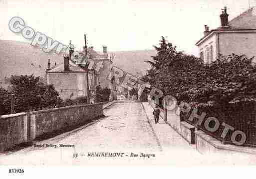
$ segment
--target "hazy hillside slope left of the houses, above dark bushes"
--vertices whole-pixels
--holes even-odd
[[[0,40],[0,77],[32,73],[44,76],[48,59],[52,65],[63,62],[62,55],[45,53],[29,43]]]

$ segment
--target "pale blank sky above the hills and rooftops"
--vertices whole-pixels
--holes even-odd
[[[26,41],[8,22],[19,16],[25,25],[77,50],[88,45],[102,51],[154,49],[161,36],[178,50],[198,56],[195,43],[204,25],[220,26],[221,8],[232,19],[256,5],[256,0],[0,0],[0,39]]]

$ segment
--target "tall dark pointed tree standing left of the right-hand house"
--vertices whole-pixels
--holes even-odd
[[[187,73],[200,69],[202,65],[197,57],[177,51],[176,46],[163,36],[159,46],[154,47],[157,55],[152,56],[152,61],[146,61],[152,65],[152,69],[148,70],[143,80],[162,90],[164,95],[178,97],[181,91],[189,89],[191,81]]]

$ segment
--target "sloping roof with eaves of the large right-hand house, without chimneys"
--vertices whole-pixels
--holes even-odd
[[[229,27],[218,27],[212,29],[207,35],[197,41],[201,42],[207,36],[212,35],[212,32],[226,32],[226,31],[242,31],[242,30],[256,30],[256,7],[251,7],[245,12],[229,21]]]

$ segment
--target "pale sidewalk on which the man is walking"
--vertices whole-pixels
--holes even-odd
[[[142,102],[142,105],[145,109],[149,122],[151,123],[152,128],[156,133],[156,136],[158,137],[159,143],[164,152],[173,151],[173,150],[188,150],[192,153],[198,153],[173,128],[171,128],[168,124],[165,124],[164,119],[162,118],[162,115],[160,116],[159,124],[155,124],[154,117],[152,115],[153,108],[149,105],[148,102]],[[169,119],[170,119],[170,116],[169,116]]]

